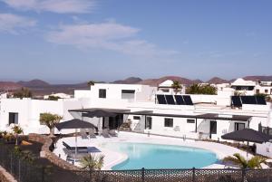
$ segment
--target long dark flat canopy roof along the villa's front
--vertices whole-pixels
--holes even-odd
[[[170,118],[189,118],[189,119],[206,119],[206,120],[233,120],[233,121],[248,121],[252,116],[247,115],[220,115],[215,113],[205,113],[199,115],[188,115],[188,114],[165,114],[165,113],[154,113],[152,110],[140,110],[131,111],[123,109],[108,109],[108,108],[90,108],[90,109],[78,109],[69,110],[77,112],[92,112],[94,110],[105,110],[115,114],[131,114],[131,115],[143,115],[143,116],[160,116]]]

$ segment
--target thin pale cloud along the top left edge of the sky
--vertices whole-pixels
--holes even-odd
[[[17,10],[47,11],[58,14],[88,13],[95,6],[94,0],[0,0]]]

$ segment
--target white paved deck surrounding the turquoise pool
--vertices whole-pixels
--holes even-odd
[[[63,152],[63,141],[68,143],[70,146],[75,146],[74,137],[59,139],[56,148],[54,149],[54,153],[57,156],[61,156],[64,160],[66,159],[66,155]],[[131,142],[131,143],[151,143],[151,144],[162,144],[162,145],[175,145],[175,146],[184,146],[184,147],[193,147],[193,148],[203,148],[208,149],[209,151],[217,154],[219,159],[225,158],[227,156],[232,156],[234,153],[239,153],[245,158],[247,157],[247,153],[238,148],[229,147],[223,144],[208,142],[208,141],[195,141],[191,139],[177,139],[170,137],[161,137],[161,136],[153,136],[150,137],[147,134],[139,134],[139,133],[131,133],[131,132],[119,132],[118,137],[113,138],[103,138],[101,136],[97,136],[96,139],[82,139],[81,137],[77,138],[78,147],[95,147],[101,150],[97,154],[102,154],[105,156],[104,158],[104,166],[103,170],[111,170],[113,166],[121,163],[126,160],[128,157],[125,153],[120,153],[116,151],[112,151],[108,148],[102,148],[102,143],[108,142]],[[248,154],[248,158],[251,158],[252,155]],[[80,166],[79,163],[75,163],[76,166]],[[212,164],[205,168],[224,168],[225,166],[222,164]]]

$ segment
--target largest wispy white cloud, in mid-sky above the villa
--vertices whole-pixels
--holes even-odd
[[[51,43],[70,44],[77,48],[111,50],[133,55],[171,55],[177,52],[160,50],[156,44],[137,38],[140,29],[107,22],[102,24],[60,25],[46,34]]]

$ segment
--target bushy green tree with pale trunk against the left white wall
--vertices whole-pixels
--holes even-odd
[[[63,117],[57,114],[45,112],[40,115],[41,124],[46,125],[50,129],[50,137],[53,137],[55,124],[59,123],[60,120],[63,120]]]

